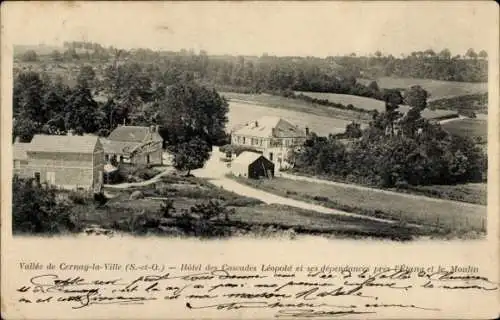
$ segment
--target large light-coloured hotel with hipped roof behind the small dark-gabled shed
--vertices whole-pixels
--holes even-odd
[[[308,128],[302,130],[285,119],[265,116],[232,132],[231,144],[262,152],[279,170],[290,167],[290,152],[303,145],[308,134]]]

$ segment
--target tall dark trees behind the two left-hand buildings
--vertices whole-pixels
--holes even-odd
[[[120,124],[156,124],[174,165],[189,173],[203,166],[212,145],[227,141],[228,110],[215,90],[189,77],[155,78],[139,64],[110,66],[102,80],[83,66],[74,87],[60,76],[22,71],[14,79],[13,136],[20,142],[37,133],[106,137]]]

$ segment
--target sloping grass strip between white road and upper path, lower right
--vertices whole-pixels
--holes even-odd
[[[486,226],[486,207],[480,205],[397,196],[355,188],[295,181],[285,178],[250,180],[240,183],[265,191],[309,201],[326,207],[427,226],[441,226],[450,232],[481,232]]]

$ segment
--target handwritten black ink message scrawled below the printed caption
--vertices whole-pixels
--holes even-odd
[[[109,276],[113,272],[100,273],[98,278],[86,272],[68,277],[60,270],[43,270],[17,288],[16,299],[31,305],[64,304],[74,310],[161,301],[180,303],[187,312],[266,309],[275,318],[331,318],[363,317],[388,308],[439,311],[438,304],[414,305],[398,300],[414,290],[420,290],[420,294],[423,290],[440,290],[440,294],[498,290],[496,283],[477,273],[446,270],[281,270],[285,271],[137,270],[120,273],[120,277]]]

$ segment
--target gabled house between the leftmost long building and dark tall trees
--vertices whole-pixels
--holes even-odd
[[[119,126],[101,139],[106,162],[162,164],[163,139],[158,126]]]

